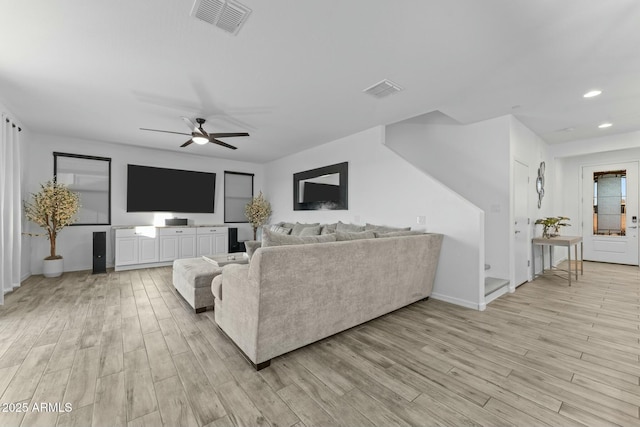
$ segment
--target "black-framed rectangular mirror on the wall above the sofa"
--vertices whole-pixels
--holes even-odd
[[[293,210],[346,210],[349,162],[293,174]]]

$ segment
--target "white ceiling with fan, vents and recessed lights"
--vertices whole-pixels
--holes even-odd
[[[436,110],[549,143],[640,130],[636,0],[243,0],[237,36],[193,2],[0,0],[0,102],[36,132],[254,162]],[[404,91],[362,93],[383,78]],[[139,130],[180,116],[251,136]]]

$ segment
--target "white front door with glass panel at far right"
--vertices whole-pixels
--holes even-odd
[[[638,163],[582,168],[584,259],[638,265]]]

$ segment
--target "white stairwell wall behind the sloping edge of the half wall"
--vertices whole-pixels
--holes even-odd
[[[509,278],[509,116],[470,125],[387,126],[387,145],[485,213],[485,261],[490,275]]]

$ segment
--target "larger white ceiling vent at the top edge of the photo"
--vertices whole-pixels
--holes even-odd
[[[191,11],[191,16],[233,35],[238,34],[250,14],[251,9],[230,0],[196,0]]]

